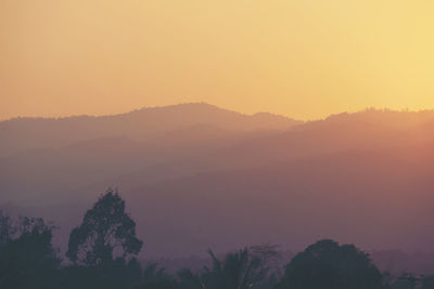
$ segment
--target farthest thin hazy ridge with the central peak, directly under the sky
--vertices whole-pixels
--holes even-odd
[[[144,142],[197,124],[229,131],[252,131],[282,130],[301,123],[269,114],[247,116],[205,103],[142,108],[102,117],[15,118],[0,122],[0,156],[113,136]]]

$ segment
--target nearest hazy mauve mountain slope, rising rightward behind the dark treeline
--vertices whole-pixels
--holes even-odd
[[[293,249],[319,238],[426,251],[434,241],[433,145],[202,173],[124,196],[151,253],[246,242]]]

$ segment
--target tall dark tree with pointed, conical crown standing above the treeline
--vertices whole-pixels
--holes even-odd
[[[99,266],[112,263],[115,254],[124,260],[138,254],[142,245],[125,201],[108,188],[72,231],[66,255],[75,264]]]

